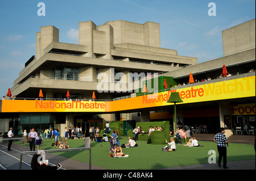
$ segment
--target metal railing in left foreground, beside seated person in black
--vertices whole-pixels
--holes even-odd
[[[56,153],[64,151],[82,151],[89,150],[89,170],[92,170],[92,150],[90,147],[85,148],[69,148],[69,149],[57,149],[57,150],[39,150],[39,151],[23,151],[20,152],[19,170],[22,170],[22,155],[23,154],[35,154],[35,153]]]

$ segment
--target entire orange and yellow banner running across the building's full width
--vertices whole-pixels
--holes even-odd
[[[205,85],[159,92],[111,102],[53,101],[53,100],[2,100],[2,112],[114,112],[139,108],[170,106],[171,92],[179,92],[183,103],[207,102],[234,98],[255,97],[255,76]],[[239,110],[239,109],[238,109]],[[254,106],[255,112],[255,106]]]

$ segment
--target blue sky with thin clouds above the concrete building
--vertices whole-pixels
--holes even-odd
[[[46,16],[38,16],[38,3]],[[209,16],[208,3],[216,4]],[[0,97],[13,87],[27,60],[35,55],[36,32],[53,25],[60,42],[78,44],[79,22],[112,20],[160,24],[162,48],[199,62],[222,56],[221,31],[255,18],[255,0],[9,0],[0,1]]]

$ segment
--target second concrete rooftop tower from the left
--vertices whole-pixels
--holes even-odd
[[[93,30],[96,30],[96,24],[93,22],[80,22],[79,23],[79,44],[88,46],[88,53],[86,57],[95,57],[93,53]]]

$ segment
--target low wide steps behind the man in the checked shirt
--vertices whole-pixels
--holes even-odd
[[[213,141],[213,137],[215,134],[193,134],[196,137],[197,141]],[[254,135],[232,135],[228,137],[228,142],[236,143],[236,144],[255,144],[255,136]]]

